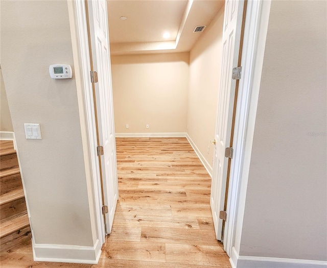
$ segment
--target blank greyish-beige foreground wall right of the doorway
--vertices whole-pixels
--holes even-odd
[[[240,255],[327,260],[326,25],[271,3]]]

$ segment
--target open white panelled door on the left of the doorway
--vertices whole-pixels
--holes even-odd
[[[98,72],[98,82],[95,83],[96,103],[99,139],[100,145],[103,146],[104,151],[104,155],[101,156],[101,171],[104,205],[108,206],[108,213],[105,214],[106,232],[110,233],[118,200],[118,177],[114,136],[107,3],[105,0],[91,0],[87,3],[92,63],[94,70]]]

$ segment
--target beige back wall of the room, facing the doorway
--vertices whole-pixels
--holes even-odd
[[[112,56],[111,66],[116,133],[186,132],[189,53]]]

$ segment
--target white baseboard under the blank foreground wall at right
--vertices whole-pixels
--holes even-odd
[[[238,256],[235,248],[229,259],[232,268],[323,268],[327,261]]]

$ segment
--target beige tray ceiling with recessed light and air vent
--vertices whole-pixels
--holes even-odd
[[[188,52],[224,0],[107,0],[112,55]],[[120,17],[127,17],[122,20]],[[170,37],[164,38],[164,33]]]

